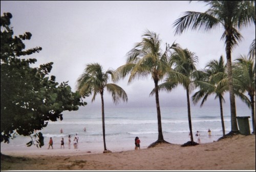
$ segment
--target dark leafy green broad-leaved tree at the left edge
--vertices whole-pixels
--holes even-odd
[[[15,134],[29,136],[46,127],[49,120],[62,120],[65,110],[78,110],[82,103],[79,92],[72,92],[67,82],[58,84],[48,77],[52,62],[30,67],[36,59],[22,56],[39,53],[41,47],[25,49],[24,40],[31,33],[13,36],[9,27],[11,13],[1,16],[1,142],[9,142]],[[39,146],[44,137],[38,134]]]

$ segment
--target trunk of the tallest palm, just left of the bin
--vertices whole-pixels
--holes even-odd
[[[228,30],[226,30],[228,32]],[[230,31],[229,31],[230,32]],[[226,56],[227,56],[227,76],[231,113],[231,131],[230,133],[239,133],[237,124],[236,101],[234,100],[234,88],[231,67],[231,34],[226,36]]]

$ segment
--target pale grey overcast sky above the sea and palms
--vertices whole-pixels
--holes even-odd
[[[220,40],[223,28],[210,33],[188,31],[174,36],[173,23],[185,11],[204,12],[204,3],[188,1],[1,1],[1,16],[4,12],[13,15],[11,26],[14,35],[30,32],[26,48],[41,46],[36,65],[54,62],[51,75],[57,82],[69,81],[75,91],[76,80],[86,64],[99,63],[104,71],[116,69],[126,61],[126,53],[136,42],[141,41],[145,30],[159,34],[162,46],[179,43],[182,48],[196,53],[198,69],[213,59],[225,56],[224,41]],[[249,45],[255,39],[255,26],[241,30],[244,37],[233,53],[232,60],[240,54],[248,54]],[[225,58],[226,59],[226,58]],[[135,80],[127,85],[127,79],[117,83],[127,93],[129,102],[120,106],[155,106],[155,97],[149,97],[154,88],[151,77]],[[177,88],[171,93],[160,93],[160,106],[186,106],[185,90]],[[226,95],[226,106],[229,96]],[[209,99],[207,105],[217,105]],[[86,102],[91,105],[91,97]],[[237,106],[245,106],[237,101]],[[100,103],[98,95],[93,106]],[[112,100],[105,94],[106,106]]]

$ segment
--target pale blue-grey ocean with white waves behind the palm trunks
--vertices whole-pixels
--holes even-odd
[[[230,131],[230,110],[224,107],[224,122],[226,133]],[[237,107],[237,116],[250,116],[248,107]],[[161,107],[162,130],[164,139],[170,143],[183,144],[190,140],[187,108],[186,107]],[[194,141],[199,131],[201,143],[213,142],[222,137],[220,108],[217,107],[191,107],[191,120]],[[249,118],[251,128],[251,118]],[[86,132],[83,131],[86,127]],[[60,130],[62,129],[62,133]],[[211,137],[208,137],[208,129]],[[252,131],[252,129],[250,129]],[[75,134],[79,136],[78,149],[83,151],[103,152],[101,107],[79,108],[78,111],[63,112],[63,120],[52,122],[41,132],[45,138],[45,146],[48,148],[50,137],[53,139],[54,149],[60,149],[60,140],[63,137],[66,149],[68,148],[68,136],[71,140]],[[105,107],[105,139],[106,148],[112,152],[134,150],[135,137],[139,137],[141,149],[155,142],[158,138],[156,107],[124,108]],[[9,144],[1,143],[2,150],[36,150],[36,146],[27,147],[30,137],[17,136],[11,139]],[[71,149],[73,145],[71,145]],[[97,152],[97,151],[96,151]]]

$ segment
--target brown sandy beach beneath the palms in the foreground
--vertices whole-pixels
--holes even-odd
[[[1,155],[1,170],[255,170],[255,135],[237,135],[197,146],[160,144],[108,154],[80,151],[72,156],[54,156],[56,151],[49,150],[48,155],[24,152],[14,157],[9,152],[9,156]]]

